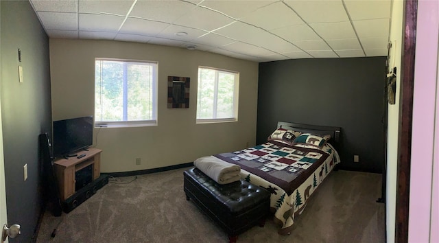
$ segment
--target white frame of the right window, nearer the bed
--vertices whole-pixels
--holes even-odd
[[[198,78],[200,77],[200,69],[211,69],[214,70],[215,73],[215,94],[214,94],[214,100],[217,100],[218,95],[218,73],[224,72],[233,74],[235,76],[233,80],[233,117],[227,117],[227,118],[198,118],[198,91],[200,88],[200,80]],[[216,106],[216,104],[215,104]],[[237,122],[238,121],[238,107],[239,107],[239,71],[231,71],[227,69],[219,69],[215,67],[206,67],[206,66],[198,66],[198,73],[197,73],[197,111],[195,113],[196,123],[197,124],[206,124],[206,123],[221,123],[221,122]],[[216,113],[216,108],[213,108],[213,111]]]

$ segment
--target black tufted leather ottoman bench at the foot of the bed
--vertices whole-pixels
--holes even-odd
[[[270,212],[270,192],[241,180],[220,185],[193,167],[183,172],[186,199],[191,198],[224,229],[230,242],[255,224],[263,227]]]

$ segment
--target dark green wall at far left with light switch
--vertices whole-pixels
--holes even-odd
[[[32,242],[43,199],[38,135],[51,134],[49,39],[29,1],[1,3],[1,119],[8,224],[21,224],[19,238]],[[21,49],[22,62],[18,60]],[[19,65],[23,83],[19,83]],[[23,181],[23,165],[28,178]]]

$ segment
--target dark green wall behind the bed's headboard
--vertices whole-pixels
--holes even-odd
[[[341,168],[381,172],[385,57],[296,59],[259,64],[257,143],[276,122],[342,128]],[[353,155],[359,163],[353,163]]]

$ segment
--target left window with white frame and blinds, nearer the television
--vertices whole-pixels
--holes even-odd
[[[148,126],[157,119],[157,63],[95,59],[95,126]]]

